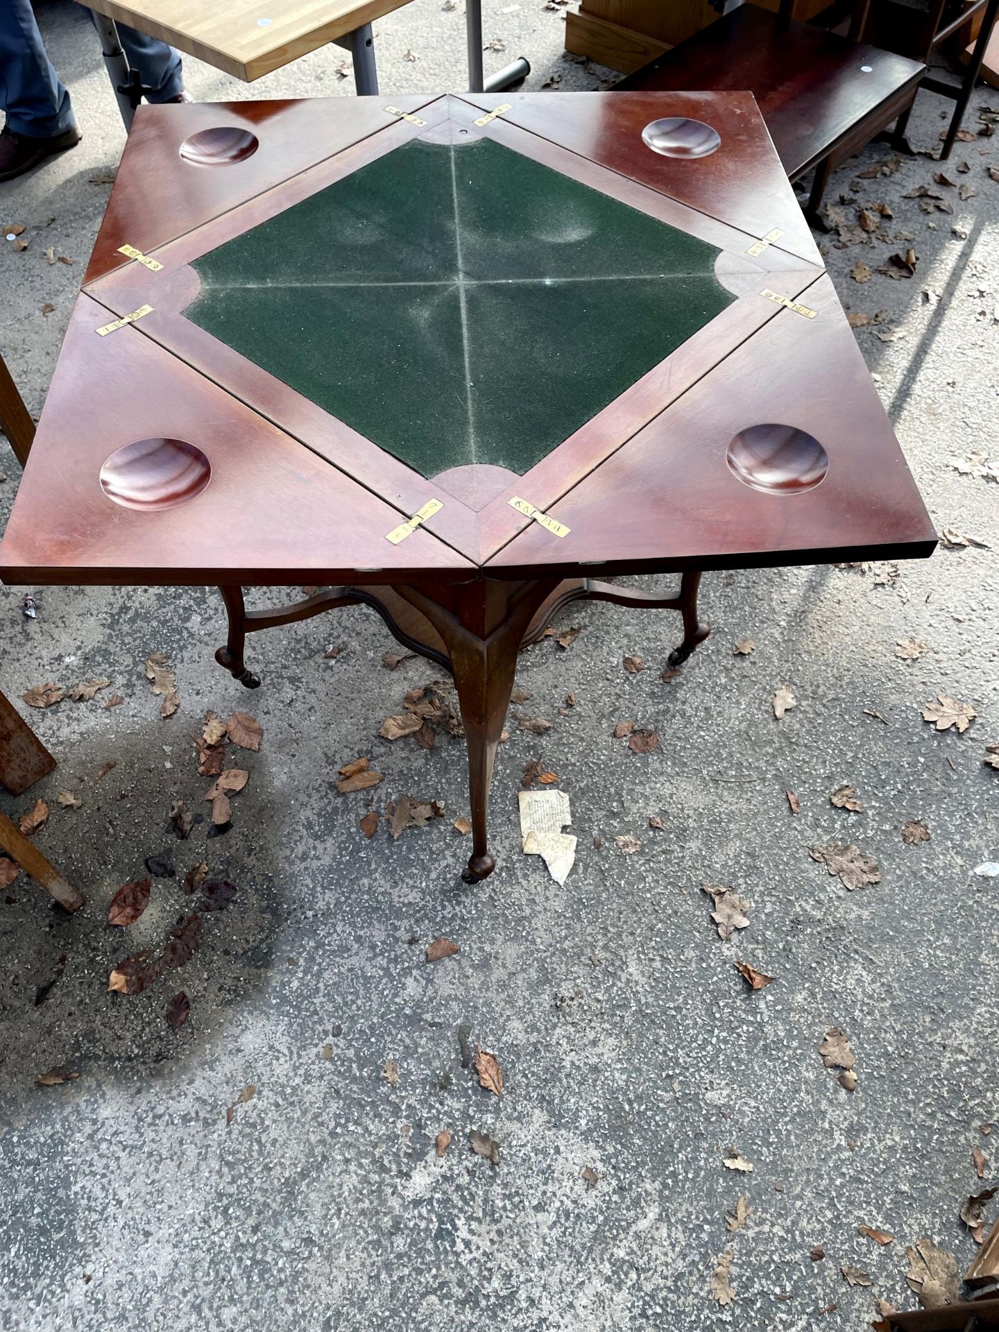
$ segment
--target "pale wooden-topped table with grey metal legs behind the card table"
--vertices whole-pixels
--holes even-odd
[[[125,128],[141,97],[117,37],[125,23],[159,37],[234,79],[252,83],[328,43],[352,55],[358,96],[377,95],[372,24],[409,0],[95,0],[89,4],[104,44],[104,61],[119,100]],[[517,60],[490,79],[482,72],[482,0],[466,0],[469,88],[509,88],[530,73]]]

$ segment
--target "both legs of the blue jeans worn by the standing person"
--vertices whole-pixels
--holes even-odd
[[[165,41],[119,24],[121,47],[149,101],[169,101],[184,88],[177,52]],[[0,109],[16,135],[48,139],[76,124],[69,91],[45,55],[31,0],[0,0]]]

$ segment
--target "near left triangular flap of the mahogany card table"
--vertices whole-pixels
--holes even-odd
[[[7,582],[340,582],[361,569],[377,582],[473,571],[421,522],[139,328],[100,336],[108,321],[96,301],[79,298],[0,545]],[[95,381],[108,392],[92,392]]]

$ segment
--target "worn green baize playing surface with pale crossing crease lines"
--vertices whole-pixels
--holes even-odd
[[[414,140],[196,260],[185,314],[426,477],[522,474],[734,300],[717,256],[488,139]]]

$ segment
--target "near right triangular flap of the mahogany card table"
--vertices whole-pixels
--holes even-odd
[[[928,555],[936,543],[829,277],[486,567],[601,575]]]

